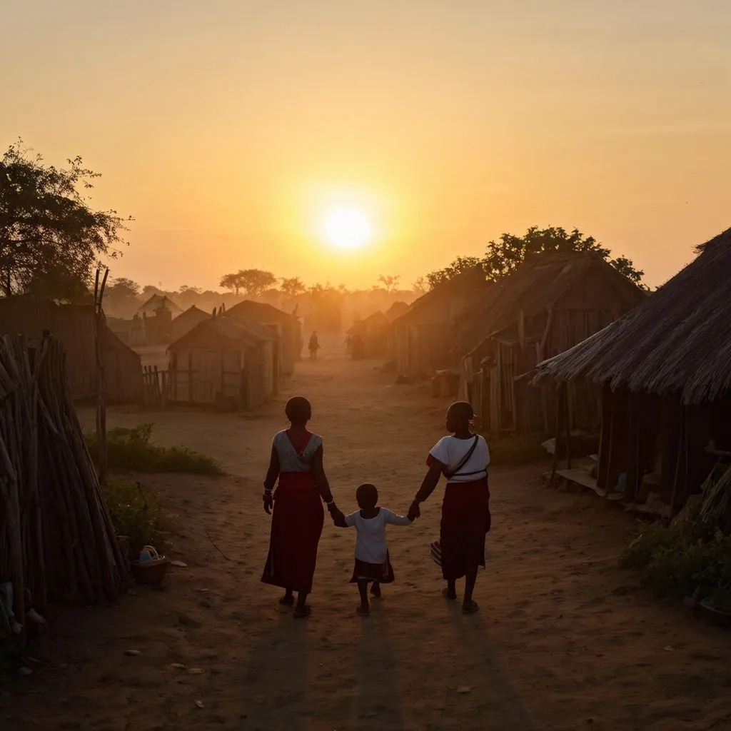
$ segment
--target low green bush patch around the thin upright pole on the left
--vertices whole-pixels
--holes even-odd
[[[151,442],[154,424],[135,428],[115,428],[107,431],[107,461],[113,469],[143,472],[192,472],[194,474],[223,474],[220,464],[208,455],[187,447],[161,447]],[[99,445],[96,433],[86,433],[86,446],[96,460]]]

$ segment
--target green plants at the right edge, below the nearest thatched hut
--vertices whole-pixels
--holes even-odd
[[[695,596],[731,611],[731,537],[720,531],[699,540],[678,527],[648,526],[625,550],[620,566],[640,571],[655,596]]]

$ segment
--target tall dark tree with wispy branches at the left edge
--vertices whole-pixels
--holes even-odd
[[[72,300],[88,295],[102,257],[117,257],[124,220],[94,211],[78,190],[99,177],[80,157],[46,165],[22,140],[0,158],[0,292]],[[126,219],[132,220],[132,219]]]

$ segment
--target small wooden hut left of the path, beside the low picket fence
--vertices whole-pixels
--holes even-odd
[[[257,409],[279,390],[279,336],[256,322],[211,317],[170,344],[170,400]]]

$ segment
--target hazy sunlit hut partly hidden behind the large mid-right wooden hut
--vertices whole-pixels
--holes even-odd
[[[488,288],[481,267],[437,284],[393,321],[398,374],[410,381],[456,368],[452,325],[465,306]]]

